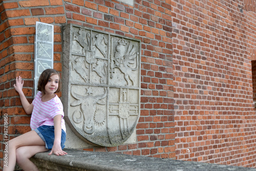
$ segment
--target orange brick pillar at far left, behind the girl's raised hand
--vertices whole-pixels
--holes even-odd
[[[13,88],[15,78],[25,80],[24,93],[33,100],[35,22],[54,24],[54,69],[61,72],[61,24],[66,23],[62,1],[1,2],[0,5],[0,149],[1,168],[4,155],[4,114],[8,114],[8,137],[30,131],[30,115],[22,108]]]

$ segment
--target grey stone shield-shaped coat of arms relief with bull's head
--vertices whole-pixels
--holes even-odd
[[[140,116],[141,41],[74,24],[63,41],[65,121],[91,144],[124,143]]]

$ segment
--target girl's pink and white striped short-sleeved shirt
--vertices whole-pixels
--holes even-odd
[[[61,115],[61,129],[66,132],[65,121],[63,119],[63,105],[59,97],[55,95],[49,101],[42,102],[41,92],[38,92],[35,99],[33,100],[33,112],[30,120],[30,127],[32,130],[37,129],[41,125],[54,126],[53,118],[56,115]]]

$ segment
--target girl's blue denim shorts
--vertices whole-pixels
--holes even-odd
[[[35,129],[35,132],[41,137],[41,139],[46,143],[47,149],[52,149],[54,143],[54,126],[41,125]],[[60,146],[63,149],[65,147],[64,143],[66,141],[66,133],[61,129],[61,143]]]

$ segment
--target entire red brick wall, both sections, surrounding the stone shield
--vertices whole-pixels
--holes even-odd
[[[255,167],[254,1],[38,2],[0,1],[1,133],[4,113],[10,139],[30,130],[12,85],[22,75],[32,101],[35,22],[54,25],[59,72],[61,28],[74,23],[142,41],[138,143],[86,150]]]

